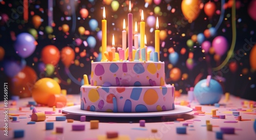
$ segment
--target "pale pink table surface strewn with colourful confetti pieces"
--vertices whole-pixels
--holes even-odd
[[[12,122],[8,120],[8,136],[4,135],[4,102],[0,102],[0,139],[14,139],[13,130],[23,129],[25,135],[23,138],[18,139],[105,139],[107,131],[118,131],[119,137],[116,139],[216,139],[216,132],[220,131],[221,127],[233,127],[234,134],[223,134],[223,139],[256,139],[256,130],[253,129],[254,119],[256,119],[256,109],[250,108],[249,103],[253,101],[241,99],[238,97],[230,96],[228,101],[225,101],[223,96],[219,102],[220,107],[213,105],[200,105],[197,101],[189,103],[191,108],[201,106],[204,114],[195,114],[197,111],[193,110],[188,113],[168,116],[154,116],[154,117],[136,117],[136,118],[113,118],[104,116],[87,116],[86,122],[80,122],[80,115],[75,114],[62,114],[59,113],[61,108],[56,108],[55,114],[47,115],[45,121],[36,122],[35,124],[28,125],[31,121],[30,115],[32,110],[28,106],[28,101],[33,101],[32,98],[19,99],[16,105],[12,100],[8,101],[9,116],[19,114],[17,121]],[[67,95],[69,105],[72,103],[79,104],[79,95]],[[177,105],[184,105],[188,103],[186,95],[176,97],[175,103]],[[254,107],[255,107],[255,102]],[[22,110],[19,110],[22,107]],[[226,119],[212,118],[211,110],[218,109],[217,115],[225,115]],[[36,106],[37,111],[53,111],[51,107]],[[242,121],[237,120],[237,116],[232,114],[233,111],[239,111],[242,116]],[[73,119],[73,123],[67,121],[55,121],[58,115],[65,115],[67,119]],[[176,121],[177,119],[184,119],[184,121]],[[98,129],[90,129],[90,120],[99,120]],[[145,127],[139,126],[139,121],[145,120]],[[207,131],[206,120],[212,124],[212,131]],[[46,122],[53,121],[54,129],[46,130]],[[233,121],[234,123],[225,123]],[[188,123],[186,126],[186,134],[177,134],[176,128],[182,127],[183,124]],[[84,131],[72,131],[73,124],[85,124]],[[56,127],[63,127],[63,133],[56,133]],[[157,129],[157,132],[152,132],[152,129]],[[16,138],[15,138],[16,139]],[[112,138],[115,139],[115,138]]]

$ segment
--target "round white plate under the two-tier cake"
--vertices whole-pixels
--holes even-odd
[[[186,106],[175,105],[174,110],[159,111],[159,112],[132,112],[132,113],[113,113],[113,112],[95,112],[81,110],[80,105],[69,106],[62,108],[63,112],[77,115],[88,115],[88,116],[108,116],[108,117],[144,117],[144,116],[166,116],[166,115],[177,115],[191,112],[193,109]]]

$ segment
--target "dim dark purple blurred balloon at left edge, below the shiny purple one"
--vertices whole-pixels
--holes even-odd
[[[14,60],[5,60],[3,66],[5,74],[9,77],[14,77],[23,68],[21,64],[18,64]]]

